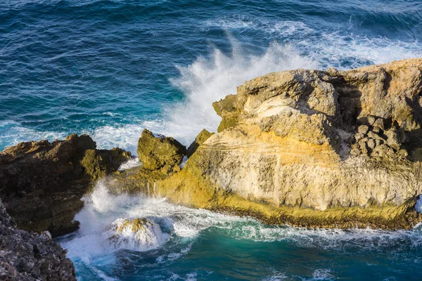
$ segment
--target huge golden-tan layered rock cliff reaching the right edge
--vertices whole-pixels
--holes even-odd
[[[155,188],[269,223],[411,228],[422,220],[421,105],[422,59],[267,74],[213,104],[218,133]]]

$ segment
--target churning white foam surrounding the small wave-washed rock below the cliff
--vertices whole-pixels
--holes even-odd
[[[109,184],[108,178],[103,178],[96,183],[94,192],[84,198],[84,209],[75,216],[75,219],[80,222],[79,230],[73,237],[64,237],[60,241],[62,246],[69,250],[68,256],[73,260],[90,263],[96,257],[113,253],[116,249],[141,250],[140,247],[136,248],[136,245],[130,243],[121,243],[118,247],[110,244],[108,237],[111,235],[108,228],[118,218],[148,218],[162,227],[162,233],[158,230],[149,233],[158,242],[149,244],[142,250],[160,247],[163,242],[167,241],[169,235],[193,238],[198,235],[200,230],[210,226],[224,227],[231,222],[249,220],[215,214],[203,209],[176,206],[168,203],[164,198],[110,195]],[[181,251],[176,254],[181,256],[186,252]],[[168,258],[176,257],[169,256]]]

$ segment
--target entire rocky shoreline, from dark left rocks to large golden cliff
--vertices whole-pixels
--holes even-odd
[[[104,176],[115,194],[271,224],[398,230],[422,221],[422,59],[270,73],[213,107],[222,117],[217,133],[203,130],[186,148],[144,130],[142,165],[124,171],[130,152],[98,150],[87,135],[0,152],[0,199],[23,229],[0,204],[0,277],[75,280],[65,252],[42,233],[77,230],[81,198]],[[18,264],[16,245],[25,243],[32,268]]]

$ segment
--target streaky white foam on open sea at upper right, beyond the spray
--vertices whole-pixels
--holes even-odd
[[[349,27],[352,28],[355,24],[350,18]],[[238,28],[261,31],[263,36],[267,34],[269,38],[290,42],[297,53],[305,58],[309,56],[323,67],[351,69],[422,56],[422,46],[416,39],[400,41],[387,37],[369,37],[347,30],[325,31],[314,29],[307,23],[299,21],[231,15],[207,20],[203,28],[210,27],[221,27],[229,31]]]

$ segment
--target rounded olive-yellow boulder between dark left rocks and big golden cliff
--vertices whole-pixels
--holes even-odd
[[[186,148],[171,137],[155,137],[151,131],[144,129],[138,141],[138,156],[144,168],[158,170],[165,166],[172,169],[180,164],[186,155]]]

